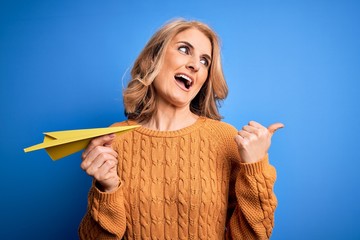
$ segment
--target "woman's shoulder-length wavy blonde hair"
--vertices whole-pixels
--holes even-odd
[[[147,121],[156,111],[155,89],[152,84],[163,64],[164,53],[172,38],[190,28],[198,29],[209,38],[212,46],[212,62],[208,78],[190,103],[190,110],[211,119],[220,120],[220,100],[226,98],[228,87],[224,78],[220,43],[216,33],[199,21],[177,19],[159,29],[146,44],[131,70],[132,79],[123,93],[125,114],[129,119]]]

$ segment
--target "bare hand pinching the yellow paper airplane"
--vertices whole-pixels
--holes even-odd
[[[118,176],[118,154],[111,148],[115,134],[91,140],[81,155],[80,167],[94,177],[100,191],[111,192],[120,184]]]

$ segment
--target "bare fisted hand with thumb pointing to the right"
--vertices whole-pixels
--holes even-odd
[[[263,159],[269,150],[272,135],[283,127],[282,123],[274,123],[266,128],[255,121],[244,126],[235,137],[241,162],[254,163]]]

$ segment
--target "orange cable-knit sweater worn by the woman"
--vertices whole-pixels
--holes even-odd
[[[276,172],[268,156],[241,163],[236,134],[200,117],[177,131],[139,127],[117,136],[120,186],[104,193],[93,183],[80,238],[269,239]]]

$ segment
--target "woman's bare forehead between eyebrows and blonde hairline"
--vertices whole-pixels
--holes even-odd
[[[210,39],[196,28],[186,29],[176,34],[171,40],[171,43],[176,44],[178,42],[188,42],[195,50],[199,51],[200,54],[211,56],[212,47]]]

